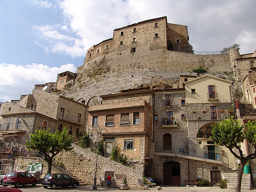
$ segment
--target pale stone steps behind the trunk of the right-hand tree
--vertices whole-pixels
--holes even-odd
[[[222,173],[223,178],[227,179],[227,186],[228,189],[235,189],[237,185],[237,175],[238,173]],[[241,190],[251,190],[252,189],[252,182],[250,174],[243,174],[242,176],[242,184]]]

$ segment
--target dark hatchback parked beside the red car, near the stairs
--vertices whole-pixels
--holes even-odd
[[[55,189],[56,187],[69,187],[72,186],[76,188],[79,185],[79,181],[71,178],[67,174],[62,173],[51,173],[44,176],[42,180],[42,186],[44,188],[51,187]]]

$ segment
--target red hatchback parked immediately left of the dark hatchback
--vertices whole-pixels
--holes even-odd
[[[15,188],[19,188],[20,185],[36,186],[38,179],[28,172],[10,172],[4,176],[2,185],[4,187],[8,185],[14,185]]]

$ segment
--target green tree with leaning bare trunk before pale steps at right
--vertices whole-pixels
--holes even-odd
[[[256,158],[256,121],[248,121],[245,127],[239,120],[235,121],[233,117],[212,125],[212,141],[217,145],[226,146],[241,161],[235,192],[241,191],[244,166],[249,160]],[[247,139],[254,146],[254,153],[248,154],[247,156],[243,154],[240,146],[240,143],[243,143],[244,139]],[[234,148],[238,150],[238,154],[234,152]]]

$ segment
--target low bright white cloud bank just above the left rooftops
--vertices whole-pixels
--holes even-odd
[[[48,67],[43,64],[28,64],[26,66],[14,64],[0,64],[0,100],[20,98],[20,94],[31,94],[35,84],[56,82],[57,74],[64,71],[75,72],[74,64],[60,67]],[[2,102],[2,101],[1,101]]]

